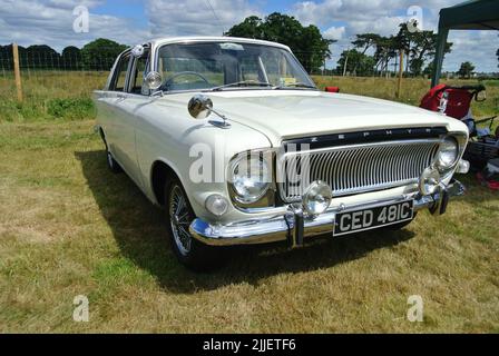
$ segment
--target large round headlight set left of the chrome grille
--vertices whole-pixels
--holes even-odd
[[[260,156],[244,156],[232,169],[232,187],[236,198],[245,204],[258,201],[271,185],[271,170]]]

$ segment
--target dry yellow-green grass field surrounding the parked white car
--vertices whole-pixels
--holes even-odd
[[[305,248],[239,248],[213,274],[169,250],[163,211],[106,168],[94,134],[102,75],[0,79],[0,332],[499,333],[498,195],[469,177],[438,218]],[[2,81],[3,80],[3,81]],[[315,78],[393,99],[394,81]],[[498,87],[480,116],[497,113]],[[417,103],[423,80],[404,81]],[[89,323],[72,319],[89,298]],[[424,322],[410,323],[420,295]]]

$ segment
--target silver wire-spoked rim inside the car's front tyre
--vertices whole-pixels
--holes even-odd
[[[185,256],[190,251],[192,237],[189,234],[189,225],[192,217],[187,206],[187,199],[178,186],[175,186],[169,195],[169,221],[175,244],[180,254]]]

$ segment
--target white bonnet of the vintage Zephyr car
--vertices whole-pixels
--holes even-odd
[[[282,140],[360,130],[444,126],[464,131],[456,119],[417,107],[368,97],[312,90],[237,90],[208,92],[214,109],[229,121]],[[193,93],[183,93],[187,105]],[[178,98],[180,99],[180,98]]]

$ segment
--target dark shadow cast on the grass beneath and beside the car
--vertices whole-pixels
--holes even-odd
[[[222,268],[209,275],[196,274],[183,267],[170,251],[164,211],[125,174],[108,170],[104,150],[75,155],[124,257],[154,275],[162,288],[175,293],[211,290],[237,283],[257,285],[272,275],[326,268],[362,258],[414,236],[405,229],[383,229],[341,238],[317,237],[306,241],[304,248],[293,250],[286,244],[229,247],[224,248],[227,261]]]

